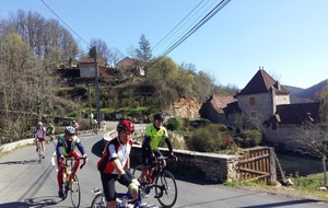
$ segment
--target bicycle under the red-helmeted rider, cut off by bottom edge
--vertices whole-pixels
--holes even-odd
[[[93,188],[94,198],[91,204],[91,208],[106,208],[107,201],[105,199],[105,195],[103,193],[103,188]],[[157,208],[155,205],[148,205],[142,201],[143,190],[142,187],[139,186],[138,197],[136,199],[132,198],[130,193],[116,193],[116,207],[117,208]]]

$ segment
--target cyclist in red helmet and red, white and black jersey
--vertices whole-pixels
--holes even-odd
[[[107,142],[102,159],[97,162],[107,208],[116,207],[116,181],[127,186],[133,198],[138,197],[139,182],[129,171],[134,125],[130,120],[121,120],[116,130],[118,136]]]

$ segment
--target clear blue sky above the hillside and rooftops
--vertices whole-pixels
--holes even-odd
[[[44,2],[82,37],[72,33],[82,49],[89,49],[85,42],[101,38],[126,56],[128,48],[139,47],[141,34],[154,47],[185,19],[153,48],[153,56],[160,56],[220,0]],[[58,20],[42,0],[0,3],[3,19],[22,9]],[[261,66],[282,84],[309,88],[328,79],[327,11],[328,0],[231,0],[167,56],[178,65],[194,63],[216,84],[243,89]]]

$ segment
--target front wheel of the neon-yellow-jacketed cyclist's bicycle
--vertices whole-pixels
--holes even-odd
[[[163,207],[173,207],[177,199],[177,186],[173,174],[167,170],[163,170],[161,175],[155,178],[155,184],[165,187],[163,196],[157,198],[159,203]],[[155,193],[159,195],[161,189],[156,187]]]

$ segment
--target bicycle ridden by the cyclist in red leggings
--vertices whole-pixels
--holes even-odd
[[[80,169],[82,169],[85,164],[86,158],[67,158],[65,160],[63,165],[63,198],[65,200],[68,196],[68,192],[70,192],[71,195],[71,201],[74,208],[78,208],[80,206],[81,201],[81,190],[80,190],[80,183],[78,180],[78,175],[74,173],[73,167],[75,164],[75,161],[83,160],[83,163],[81,164]]]

